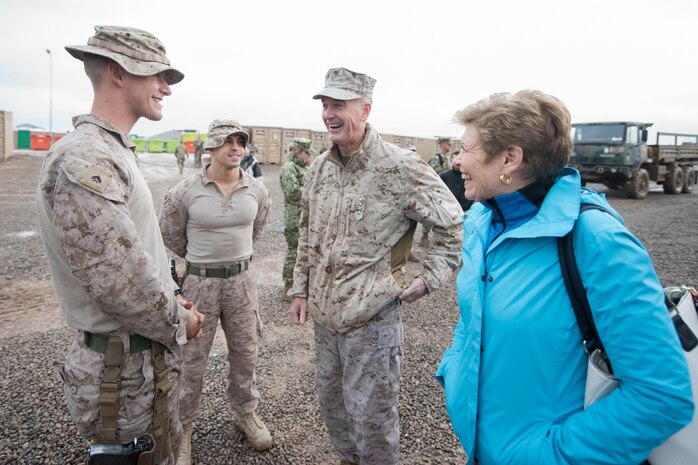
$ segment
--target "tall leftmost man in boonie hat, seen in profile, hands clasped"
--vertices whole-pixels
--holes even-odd
[[[52,146],[37,191],[58,304],[77,330],[60,367],[66,403],[92,459],[173,465],[181,346],[200,336],[203,315],[169,274],[128,134],[141,117],[162,118],[184,75],[140,29],[96,26],[87,43],[66,50],[84,62],[91,112]]]

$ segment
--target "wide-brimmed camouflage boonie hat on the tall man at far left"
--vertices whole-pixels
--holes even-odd
[[[141,29],[95,26],[95,35],[87,39],[87,45],[66,45],[65,49],[80,61],[84,61],[85,54],[110,58],[136,76],[164,72],[165,81],[170,85],[184,79],[184,74],[170,66],[162,42]]]

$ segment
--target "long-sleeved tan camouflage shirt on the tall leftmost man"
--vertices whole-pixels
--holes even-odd
[[[187,311],[176,303],[152,195],[135,144],[93,115],[44,161],[37,192],[58,303],[69,326],[186,343]]]

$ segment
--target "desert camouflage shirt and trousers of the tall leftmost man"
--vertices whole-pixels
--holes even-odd
[[[37,192],[39,227],[66,323],[78,330],[60,367],[68,410],[78,431],[101,433],[99,389],[104,356],[85,346],[84,331],[124,342],[117,439],[145,433],[153,420],[150,351],[131,354],[128,335],[165,345],[174,463],[181,437],[178,376],[188,312],[176,303],[152,196],[135,161],[135,144],[93,115],[54,144]]]

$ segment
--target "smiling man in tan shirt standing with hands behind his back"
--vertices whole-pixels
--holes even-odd
[[[170,189],[160,213],[165,245],[187,261],[182,292],[206,315],[201,339],[184,348],[179,465],[191,463],[192,422],[199,415],[208,354],[220,320],[228,343],[228,400],[235,425],[256,450],[271,447],[269,430],[255,413],[261,320],[252,244],[264,231],[271,200],[264,184],[240,168],[249,142],[237,121],[214,120],[204,148],[211,162]]]

